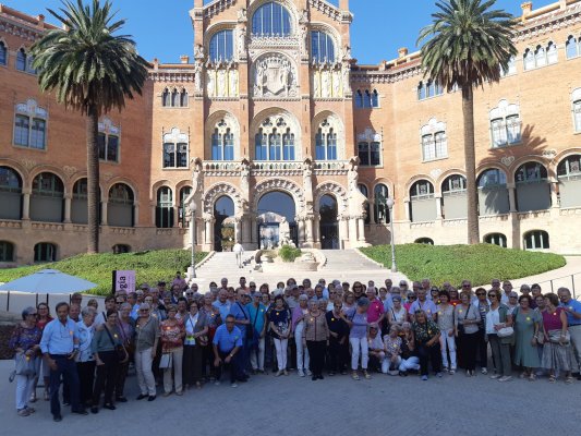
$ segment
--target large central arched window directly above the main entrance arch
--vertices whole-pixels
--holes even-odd
[[[285,118],[267,118],[254,136],[255,160],[294,160],[294,133]]]

